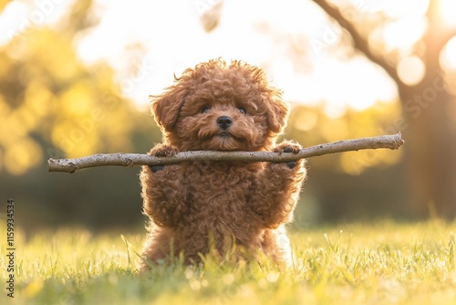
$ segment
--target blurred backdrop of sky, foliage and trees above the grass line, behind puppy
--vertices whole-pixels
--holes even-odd
[[[144,226],[140,168],[47,159],[146,153],[150,94],[209,58],[264,68],[304,146],[402,132],[399,151],[309,160],[295,226],[456,216],[453,0],[0,0],[0,200],[16,225]],[[2,212],[3,213],[3,212]]]

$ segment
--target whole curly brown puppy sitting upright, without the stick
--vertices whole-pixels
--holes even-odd
[[[153,101],[152,110],[163,132],[163,143],[150,150],[152,155],[301,149],[296,142],[275,146],[288,107],[264,72],[242,61],[214,59],[186,69]],[[150,233],[140,268],[179,255],[186,263],[199,263],[209,253],[254,259],[263,252],[288,265],[285,223],[305,177],[304,160],[143,166],[140,181]]]

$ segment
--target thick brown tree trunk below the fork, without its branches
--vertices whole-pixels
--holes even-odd
[[[411,215],[450,219],[456,216],[456,100],[442,85],[431,71],[399,95],[407,121],[402,131]]]

